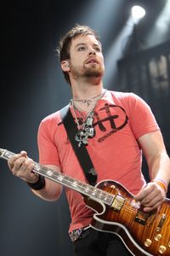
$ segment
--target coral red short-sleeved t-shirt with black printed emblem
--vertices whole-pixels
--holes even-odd
[[[81,119],[85,113],[76,111],[76,114]],[[98,174],[98,183],[105,179],[116,180],[132,194],[137,194],[145,183],[137,139],[159,130],[150,107],[133,93],[106,91],[94,109],[94,128],[96,134],[88,139],[87,149]],[[42,119],[38,148],[42,165],[59,166],[65,175],[86,182],[59,111]],[[65,188],[65,193],[71,211],[70,231],[87,226],[94,212],[86,207],[82,195],[76,191]]]

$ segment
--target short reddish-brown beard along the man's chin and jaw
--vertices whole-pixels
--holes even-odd
[[[104,67],[91,65],[91,67],[74,67],[70,65],[71,73],[75,78],[99,78],[104,75]]]

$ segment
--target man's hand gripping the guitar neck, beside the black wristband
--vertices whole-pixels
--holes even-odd
[[[34,162],[27,157],[26,151],[21,151],[20,154],[15,154],[8,160],[10,171],[17,177],[20,177],[28,183],[36,183],[38,175],[33,173]]]

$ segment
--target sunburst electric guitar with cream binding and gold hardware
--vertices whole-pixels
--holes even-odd
[[[0,157],[5,160],[13,155],[0,149]],[[159,210],[144,212],[133,195],[116,181],[105,180],[93,187],[36,162],[33,172],[81,193],[95,212],[91,227],[119,236],[132,255],[170,255],[170,200],[166,199]]]

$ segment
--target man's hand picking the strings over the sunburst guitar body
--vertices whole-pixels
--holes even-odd
[[[150,212],[161,206],[165,196],[164,190],[159,185],[148,183],[139,191],[138,195],[134,196],[134,200],[144,206],[144,212]]]

